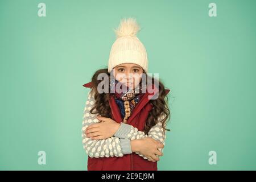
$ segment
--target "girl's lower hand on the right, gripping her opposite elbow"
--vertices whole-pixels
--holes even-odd
[[[152,162],[160,160],[156,155],[163,156],[163,153],[158,150],[158,148],[163,147],[163,143],[160,143],[157,140],[152,139],[150,137],[138,139],[138,142],[134,146],[136,152],[139,152],[142,155],[146,156]]]

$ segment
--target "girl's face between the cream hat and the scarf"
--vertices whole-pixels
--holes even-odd
[[[138,64],[133,63],[123,63],[119,64],[113,68],[113,75],[116,80],[122,82],[129,88],[135,88],[141,82],[141,77],[143,73],[142,67]]]

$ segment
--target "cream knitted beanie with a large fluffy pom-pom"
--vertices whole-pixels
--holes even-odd
[[[122,63],[134,63],[140,65],[147,73],[147,52],[136,34],[140,30],[134,18],[122,19],[115,31],[117,40],[112,45],[108,71]]]

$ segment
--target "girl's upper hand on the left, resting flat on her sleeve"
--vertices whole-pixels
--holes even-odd
[[[85,130],[87,138],[99,140],[112,137],[120,127],[120,123],[115,122],[111,118],[97,116],[99,123],[88,126]]]

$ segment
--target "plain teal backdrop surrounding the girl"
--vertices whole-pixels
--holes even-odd
[[[38,4],[46,3],[46,17]],[[217,17],[208,16],[210,2]],[[0,1],[0,169],[86,170],[82,113],[119,20],[171,89],[159,170],[256,169],[256,1]],[[46,165],[38,151],[46,151]],[[209,165],[208,152],[217,152]]]

